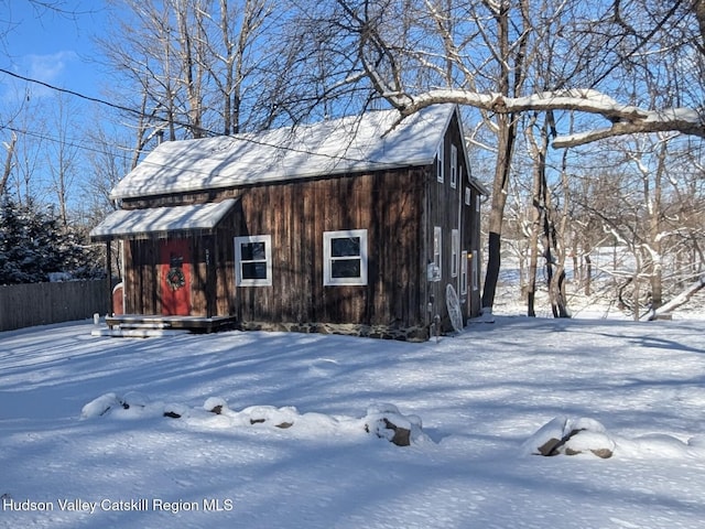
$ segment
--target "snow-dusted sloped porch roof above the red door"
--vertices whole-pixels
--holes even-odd
[[[186,206],[119,209],[90,230],[90,240],[154,239],[185,233],[213,233],[238,201]]]

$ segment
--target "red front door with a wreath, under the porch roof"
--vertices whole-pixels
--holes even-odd
[[[162,242],[160,285],[162,314],[187,316],[191,314],[191,249],[188,239]]]

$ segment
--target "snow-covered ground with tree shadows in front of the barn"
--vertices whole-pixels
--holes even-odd
[[[702,320],[498,316],[424,344],[91,328],[0,333],[0,527],[705,520]],[[365,431],[384,404],[421,419],[411,446]],[[614,456],[527,453],[562,417],[598,421]]]

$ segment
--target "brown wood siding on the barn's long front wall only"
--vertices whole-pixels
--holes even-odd
[[[192,313],[236,315],[241,322],[423,326],[420,218],[431,172],[414,168],[209,193],[208,199],[237,197],[238,203],[214,235],[192,236]],[[202,195],[127,207],[187,204]],[[367,230],[368,284],[324,287],[323,234],[348,229]],[[248,235],[272,237],[271,287],[235,285],[234,238]],[[126,242],[127,312],[160,313],[159,260],[159,241]]]

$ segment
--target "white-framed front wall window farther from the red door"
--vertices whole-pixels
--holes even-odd
[[[323,233],[323,284],[367,284],[367,229]]]

